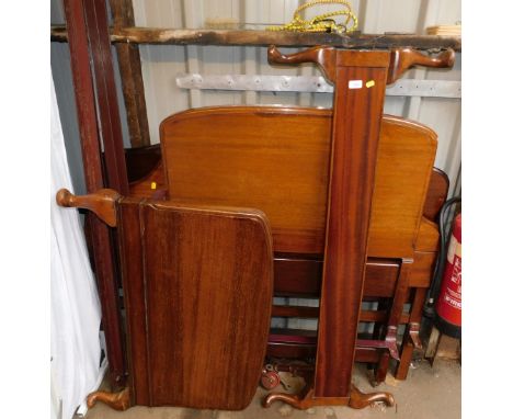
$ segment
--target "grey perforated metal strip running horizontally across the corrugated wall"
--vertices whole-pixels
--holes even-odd
[[[182,89],[333,93],[333,87],[320,76],[202,76],[179,73],[176,86]],[[388,86],[389,97],[461,98],[461,81],[399,79]]]

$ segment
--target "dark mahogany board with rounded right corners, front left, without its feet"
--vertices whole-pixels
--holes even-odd
[[[140,199],[118,213],[133,403],[244,408],[271,318],[265,216]]]

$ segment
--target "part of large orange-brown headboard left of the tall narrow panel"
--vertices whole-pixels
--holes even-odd
[[[275,251],[322,253],[330,118],[271,106],[175,114],[160,125],[169,194],[260,208]]]

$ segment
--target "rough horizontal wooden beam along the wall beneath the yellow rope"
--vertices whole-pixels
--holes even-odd
[[[55,42],[66,42],[66,27],[52,26],[50,39]],[[111,27],[111,42],[167,45],[327,45],[347,49],[412,47],[417,49],[453,48],[455,50],[461,50],[460,36],[415,34],[343,35],[311,32],[175,30],[137,26]]]

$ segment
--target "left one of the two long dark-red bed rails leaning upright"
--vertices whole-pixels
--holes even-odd
[[[81,0],[65,0],[69,31],[69,50],[75,86],[75,100],[80,131],[80,144],[89,193],[105,186],[102,172],[100,134],[94,99],[93,72],[90,67],[88,26]],[[94,274],[102,302],[102,325],[105,332],[111,386],[121,387],[125,381],[125,360],[121,315],[115,283],[114,254],[109,227],[95,215],[89,214]]]

